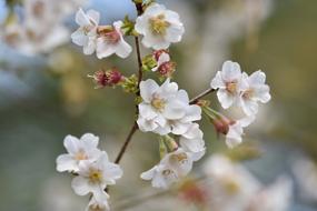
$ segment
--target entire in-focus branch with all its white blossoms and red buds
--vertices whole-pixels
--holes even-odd
[[[234,148],[241,143],[244,128],[255,120],[258,102],[270,100],[265,73],[256,71],[248,76],[232,61],[226,61],[209,88],[190,100],[187,91],[172,81],[176,62],[169,47],[180,42],[185,33],[179,14],[155,1],[133,0],[133,3],[138,13],[136,20],[126,17],[112,26],[101,26],[100,13],[95,10],[85,12],[79,9],[76,13],[79,29],[71,39],[83,48],[85,54],[96,52],[99,59],[112,54],[125,59],[132,52],[132,47],[125,40],[130,36],[135,39],[138,62],[137,76],[126,77],[117,68],[89,76],[98,88],[121,87],[136,98],[136,119],[115,162],[109,160],[106,151],[98,149],[99,138],[91,133],[80,139],[67,135],[63,143],[68,153],[57,159],[58,171],[75,175],[71,183],[75,192],[92,195],[88,211],[110,209],[106,190],[122,177],[119,163],[137,130],[159,135],[160,161],[140,178],[151,181],[153,188],[169,189],[186,177],[194,162],[206,153],[204,132],[198,123],[202,113],[217,133],[226,135],[226,144]],[[152,49],[150,54],[141,56],[140,41],[145,48]],[[153,79],[145,80],[148,72],[155,72],[161,83]],[[212,109],[208,100],[201,100],[216,91],[224,109],[238,107],[245,113],[244,118],[227,118]]]

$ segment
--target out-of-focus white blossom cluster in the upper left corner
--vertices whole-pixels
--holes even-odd
[[[69,40],[65,19],[86,0],[24,0],[21,17],[9,13],[0,38],[20,52],[47,53]]]

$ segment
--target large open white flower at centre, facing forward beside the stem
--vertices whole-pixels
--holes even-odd
[[[141,131],[156,131],[159,134],[170,132],[166,127],[168,121],[186,115],[186,103],[182,101],[182,96],[177,93],[177,83],[170,82],[169,79],[161,86],[151,79],[141,81],[140,97],[143,101],[138,105],[139,118],[137,120]]]

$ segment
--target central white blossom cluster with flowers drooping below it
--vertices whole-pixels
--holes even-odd
[[[199,124],[194,121],[201,119],[201,109],[189,104],[185,90],[178,90],[176,82],[167,79],[161,86],[148,79],[140,83],[142,102],[139,104],[139,129],[160,135],[179,137],[180,147],[171,148],[171,152],[162,154],[160,163],[141,174],[145,180],[152,180],[157,188],[168,188],[174,181],[186,175],[192,162],[205,153],[205,141]],[[170,139],[168,139],[169,141]]]

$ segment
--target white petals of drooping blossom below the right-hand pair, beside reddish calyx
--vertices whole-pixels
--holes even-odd
[[[229,124],[229,130],[226,134],[226,143],[229,148],[234,148],[242,142],[244,128],[248,127],[254,120],[255,115],[250,115]]]

